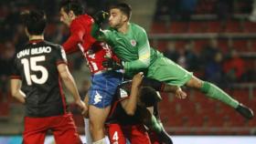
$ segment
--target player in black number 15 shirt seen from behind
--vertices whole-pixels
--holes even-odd
[[[67,109],[60,80],[84,113],[87,107],[67,67],[61,46],[44,40],[46,15],[29,11],[22,15],[29,42],[14,58],[11,93],[25,105],[23,143],[44,144],[46,133],[52,130],[57,144],[81,144],[72,115]]]

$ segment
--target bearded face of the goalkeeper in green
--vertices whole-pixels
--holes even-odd
[[[109,24],[113,28],[119,28],[123,26],[124,22],[127,21],[127,16],[123,15],[123,13],[118,8],[112,8],[110,10],[110,18]]]

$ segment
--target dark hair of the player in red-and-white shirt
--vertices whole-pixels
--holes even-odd
[[[66,13],[73,11],[75,15],[82,15],[84,8],[77,0],[63,0],[60,2],[60,8],[63,8]]]

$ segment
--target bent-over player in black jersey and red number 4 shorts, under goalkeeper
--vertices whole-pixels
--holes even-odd
[[[187,96],[179,87],[165,86],[154,79],[143,79],[142,73],[135,75],[132,81],[123,82],[117,88],[106,122],[111,143],[125,144],[126,139],[129,139],[131,143],[149,144],[144,125],[156,133],[160,142],[172,143],[163,126],[147,109],[155,106],[160,99],[156,90],[175,92],[177,98]]]

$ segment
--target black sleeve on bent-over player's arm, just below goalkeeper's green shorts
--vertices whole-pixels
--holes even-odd
[[[145,78],[142,82],[143,87],[153,87],[156,91],[163,91],[165,84],[153,78]]]

